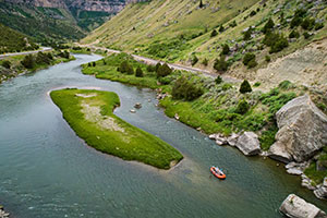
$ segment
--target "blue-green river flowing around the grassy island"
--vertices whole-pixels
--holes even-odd
[[[282,217],[278,207],[290,193],[327,209],[282,166],[217,146],[167,118],[153,90],[83,75],[80,65],[99,56],[75,57],[0,85],[0,204],[13,217]],[[184,160],[165,171],[88,147],[48,96],[59,87],[116,92],[116,114],[168,142]],[[130,113],[136,101],[142,109]],[[227,180],[211,177],[211,165]]]

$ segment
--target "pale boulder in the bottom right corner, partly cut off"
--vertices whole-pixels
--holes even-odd
[[[291,218],[327,218],[322,209],[294,194],[283,201],[279,210]]]

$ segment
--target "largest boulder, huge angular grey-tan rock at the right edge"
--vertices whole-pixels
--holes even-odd
[[[307,95],[294,98],[276,113],[279,128],[271,158],[284,162],[302,162],[312,158],[327,144],[327,116]]]

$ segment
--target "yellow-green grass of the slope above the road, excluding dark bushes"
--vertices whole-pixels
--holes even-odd
[[[112,20],[94,31],[89,36],[82,40],[84,44],[98,41],[100,46],[116,48],[124,51],[136,52],[143,56],[162,59],[170,62],[181,62],[190,64],[192,55],[199,58],[196,66],[213,70],[213,63],[219,57],[221,45],[228,44],[230,47],[239,46],[243,43],[244,47],[237,52],[231,53],[228,59],[233,62],[231,71],[235,71],[233,76],[244,77],[249,72],[254,72],[259,68],[267,65],[265,56],[269,55],[269,48],[264,47],[263,50],[257,47],[261,45],[263,34],[249,41],[243,41],[242,31],[249,26],[255,26],[258,32],[266,21],[271,17],[275,24],[280,23],[280,15],[283,13],[284,20],[290,20],[296,9],[301,7],[302,1],[288,0],[268,0],[264,7],[262,1],[228,1],[221,0],[219,3],[214,0],[204,1],[210,5],[206,9],[197,9],[198,2],[189,1],[159,1],[154,0],[149,3],[131,4]],[[213,12],[213,8],[220,8],[219,11]],[[247,8],[247,10],[246,10]],[[279,12],[275,12],[280,8]],[[249,16],[252,11],[259,11],[254,16]],[[326,3],[316,7],[317,12],[311,12],[317,20],[325,21],[327,14]],[[240,11],[239,11],[240,10]],[[191,14],[187,12],[192,11]],[[312,16],[312,15],[310,15]],[[229,27],[233,21],[237,22],[235,27]],[[168,26],[165,26],[168,24]],[[223,33],[219,33],[216,37],[210,37],[214,28],[219,24],[228,27]],[[207,28],[207,32],[205,29]],[[289,23],[281,25],[280,29],[286,36],[289,35]],[[303,48],[307,44],[322,39],[327,35],[327,26],[308,39],[304,39],[304,33],[299,27],[301,37],[281,52],[270,55],[271,60],[291,53],[299,48]],[[199,35],[202,33],[202,35]],[[152,37],[149,37],[152,35]],[[180,40],[181,35],[184,39]],[[197,37],[195,37],[197,35]],[[193,38],[195,37],[195,38]],[[177,41],[174,45],[170,45]],[[158,52],[149,53],[148,48],[158,44],[168,44],[165,58],[160,58]],[[243,58],[243,50],[254,50],[257,56],[258,65],[255,69],[247,70],[239,61]],[[158,55],[159,53],[159,55]],[[204,59],[209,60],[208,66],[202,65]],[[244,76],[242,76],[244,75]],[[253,80],[253,77],[252,77]]]

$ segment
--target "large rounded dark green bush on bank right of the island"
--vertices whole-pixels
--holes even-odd
[[[174,82],[171,95],[174,99],[194,100],[203,95],[203,90],[184,76],[181,76]]]

